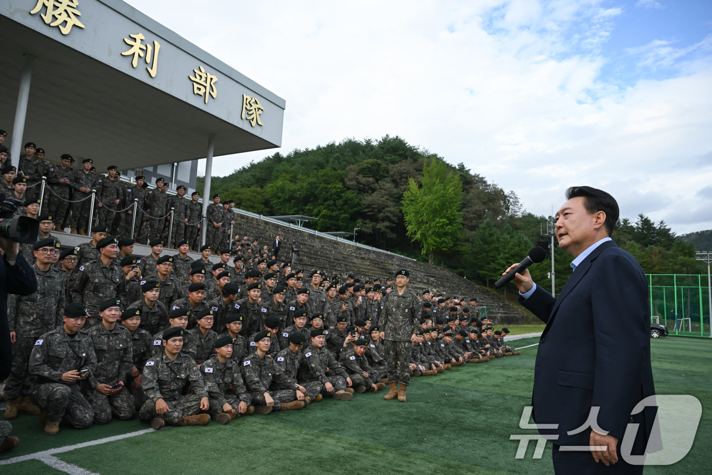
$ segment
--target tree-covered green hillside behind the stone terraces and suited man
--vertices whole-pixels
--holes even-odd
[[[550,238],[540,235],[546,218],[523,210],[513,191],[399,137],[346,139],[275,153],[231,175],[213,177],[211,190],[253,213],[317,218],[305,224],[308,228],[360,228],[358,242],[445,265],[488,287],[533,245],[549,247]],[[644,215],[635,223],[619,221],[614,240],[637,257],[645,272],[699,270],[693,245]],[[571,258],[558,248],[555,252],[560,290],[570,275]],[[532,270],[550,288],[545,283],[550,262]]]

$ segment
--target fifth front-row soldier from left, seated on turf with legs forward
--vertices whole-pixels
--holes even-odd
[[[306,389],[284,374],[274,359],[267,356],[271,336],[268,330],[258,332],[254,339],[256,352],[248,354],[242,363],[242,379],[247,392],[251,392],[253,405],[260,414],[269,414],[273,410],[302,409]],[[270,391],[273,382],[288,389]]]

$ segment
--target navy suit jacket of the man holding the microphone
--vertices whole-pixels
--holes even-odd
[[[534,369],[533,417],[558,428],[540,434],[558,434],[553,442],[559,445],[588,445],[590,428],[567,431],[585,425],[598,406],[601,429],[622,439],[632,419],[646,441],[655,408],[631,416],[655,393],[648,284],[634,257],[604,242],[576,267],[557,299],[537,286],[519,301],[546,324]]]

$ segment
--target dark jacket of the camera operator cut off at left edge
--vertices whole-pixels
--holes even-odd
[[[0,381],[9,376],[12,367],[7,295],[30,295],[34,292],[37,292],[37,277],[22,253],[17,255],[15,265],[9,265],[3,255],[0,259]]]

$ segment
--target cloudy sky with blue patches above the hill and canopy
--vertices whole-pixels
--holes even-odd
[[[397,135],[533,213],[587,184],[712,228],[712,1],[128,3],[285,98],[282,153]]]

